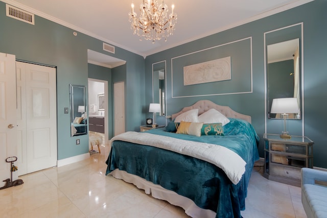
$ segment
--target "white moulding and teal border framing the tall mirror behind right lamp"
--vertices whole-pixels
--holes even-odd
[[[271,45],[271,44],[276,44],[276,43],[279,43],[279,42],[284,42],[284,41],[289,41],[289,40],[292,40],[292,39],[296,39],[294,37],[283,37],[283,32],[277,32],[277,31],[283,31],[283,30],[286,30],[287,31],[287,28],[292,28],[292,27],[296,27],[296,26],[299,26],[300,27],[300,32],[298,33],[299,34],[299,37],[298,37],[298,40],[299,40],[299,99],[300,99],[300,104],[299,104],[299,114],[296,115],[294,118],[290,117],[290,118],[287,118],[287,119],[301,119],[302,118],[302,108],[303,108],[303,23],[296,23],[295,25],[291,25],[291,26],[288,26],[288,27],[284,27],[284,28],[280,28],[280,29],[276,29],[276,30],[272,30],[272,31],[269,31],[269,32],[266,32],[264,33],[264,55],[265,55],[265,59],[264,59],[264,62],[265,62],[265,114],[266,114],[266,118],[269,118],[269,119],[284,119],[283,116],[281,117],[270,117],[270,103],[269,103],[269,83],[268,83],[268,53],[267,53],[267,46],[268,45]],[[276,39],[276,41],[274,42],[271,42],[271,43],[267,43],[267,34],[269,33],[274,33],[276,35],[278,35],[279,38],[283,38],[283,39]],[[281,34],[282,33],[282,34]],[[286,98],[286,97],[284,97]]]

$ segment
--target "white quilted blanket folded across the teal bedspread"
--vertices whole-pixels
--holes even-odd
[[[188,141],[161,135],[155,135],[154,137],[153,134],[139,132],[125,132],[114,136],[110,140],[110,145],[114,140],[145,144],[205,160],[220,167],[233,184],[237,184],[245,172],[246,162],[238,154],[216,144]]]

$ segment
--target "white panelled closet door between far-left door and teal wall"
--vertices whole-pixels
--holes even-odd
[[[57,165],[56,68],[16,62],[19,175]]]

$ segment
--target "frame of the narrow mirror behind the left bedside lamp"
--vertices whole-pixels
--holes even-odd
[[[157,65],[157,66],[156,66]],[[154,90],[154,85],[155,85],[155,75],[154,73],[156,71],[159,71],[159,70],[162,70],[162,68],[164,69],[164,88],[165,88],[165,91],[160,91],[157,90],[157,93],[159,92],[159,102],[155,102],[155,98],[154,98],[154,93],[155,93],[155,90]],[[166,73],[166,70],[167,67],[166,67],[166,60],[164,61],[159,61],[159,62],[156,62],[156,63],[152,63],[152,103],[159,103],[160,106],[161,106],[161,111],[159,113],[158,116],[166,116],[166,111],[167,111],[167,73]],[[161,101],[160,101],[161,100]]]

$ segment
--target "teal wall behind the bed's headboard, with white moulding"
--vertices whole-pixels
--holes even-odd
[[[304,132],[315,142],[314,146],[314,165],[318,167],[327,167],[327,146],[325,139],[325,123],[327,115],[325,108],[327,107],[327,1],[316,0],[314,2],[284,11],[260,20],[256,20],[245,25],[232,28],[211,36],[207,36],[172,49],[156,53],[146,58],[146,84],[152,81],[152,63],[167,60],[167,115],[178,112],[182,107],[191,105],[199,100],[207,99],[220,105],[228,105],[237,112],[251,115],[252,125],[261,137],[259,146],[260,155],[263,157],[263,134],[265,132],[265,65],[264,65],[264,33],[276,30],[279,28],[294,25],[303,22],[303,66],[304,66]],[[178,27],[176,27],[178,28]],[[285,36],[285,34],[284,34]],[[174,37],[174,36],[171,36]],[[181,89],[180,92],[188,94],[184,91],[183,84],[172,81],[175,77],[181,78],[183,71],[181,67],[177,67],[174,63],[176,57],[190,54],[193,52],[208,49],[210,47],[223,45],[229,42],[237,41],[247,37],[252,37],[252,92],[251,93],[233,93],[224,95],[209,95],[214,93],[210,88],[207,94],[203,96],[188,96],[182,98],[172,98],[173,89]],[[299,36],[300,37],[300,36]],[[276,36],[275,39],[277,39]],[[169,39],[168,39],[169,40]],[[284,41],[284,40],[283,40]],[[240,49],[240,48],[239,48]],[[245,48],[246,49],[246,48]],[[239,65],[239,62],[233,62],[233,57],[237,52],[236,48],[228,47],[230,51],[216,51],[216,57],[220,54],[231,54],[232,68]],[[201,54],[201,53],[200,53]],[[217,58],[213,58],[217,59]],[[209,55],[192,56],[192,61],[208,61]],[[235,59],[234,59],[235,60]],[[173,62],[172,62],[173,61]],[[172,65],[173,63],[173,65]],[[189,65],[184,60],[180,65]],[[249,63],[247,63],[249,64]],[[242,67],[241,64],[238,67]],[[245,67],[244,73],[248,73]],[[176,74],[176,75],[175,75]],[[232,71],[233,74],[233,71]],[[232,80],[235,78],[232,78]],[[207,84],[211,86],[212,84]],[[218,83],[217,83],[218,85]],[[207,86],[194,86],[192,93],[205,93],[203,88]],[[228,91],[236,90],[235,84],[231,84]],[[230,90],[229,90],[230,89]],[[179,91],[179,90],[178,90]],[[224,90],[216,90],[216,93],[224,92]],[[175,96],[175,95],[174,95]],[[152,87],[146,87],[146,104],[152,102]],[[148,113],[147,116],[150,116]],[[267,120],[267,132],[279,134],[282,131],[281,120]],[[294,135],[302,134],[302,120],[289,120],[289,131]],[[279,124],[281,123],[281,124]]]

